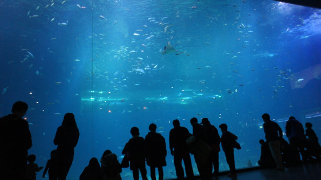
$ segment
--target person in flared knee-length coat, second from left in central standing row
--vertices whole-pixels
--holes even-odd
[[[148,127],[150,132],[145,136],[147,145],[147,165],[150,166],[150,178],[156,180],[155,167],[158,169],[158,180],[163,180],[163,166],[166,166],[166,143],[165,138],[156,132],[156,124],[151,123]]]

